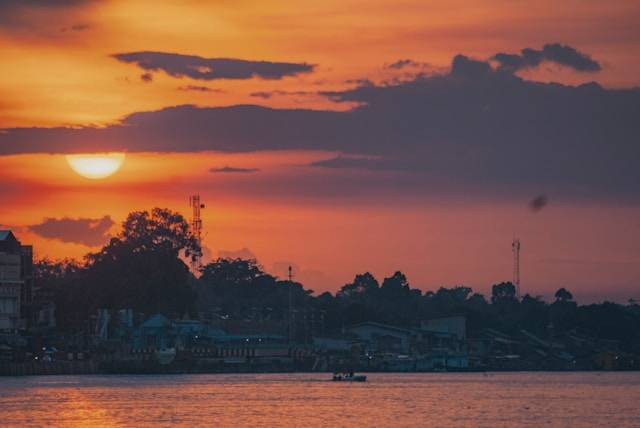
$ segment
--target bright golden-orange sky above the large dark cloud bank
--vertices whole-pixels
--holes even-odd
[[[393,73],[382,67],[399,58],[438,70],[457,53],[487,58],[556,40],[605,63],[600,83],[637,86],[639,9],[633,0],[128,0],[23,11],[8,18],[13,25],[0,28],[0,126],[101,124],[184,103],[264,104],[248,94],[317,90],[319,83],[323,90],[341,88],[349,79],[388,78]],[[73,26],[82,30],[73,31]],[[152,84],[144,83],[140,70],[109,57],[141,50],[304,61],[318,69],[281,81],[215,81],[209,86],[225,92],[194,93],[177,90],[193,83],[188,79],[156,73]],[[592,79],[558,70],[534,74],[556,81]],[[330,105],[312,96],[274,97],[268,104]]]

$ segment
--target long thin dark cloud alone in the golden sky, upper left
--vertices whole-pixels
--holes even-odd
[[[143,70],[164,71],[172,77],[196,80],[216,79],[281,79],[301,73],[310,73],[314,65],[307,63],[247,61],[234,58],[203,58],[168,52],[117,53],[113,58],[136,64]]]

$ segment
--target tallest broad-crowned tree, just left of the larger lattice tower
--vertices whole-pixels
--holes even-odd
[[[195,301],[193,276],[181,257],[200,251],[179,213],[162,208],[130,213],[116,237],[86,256],[86,279],[96,296],[94,309],[190,312]]]

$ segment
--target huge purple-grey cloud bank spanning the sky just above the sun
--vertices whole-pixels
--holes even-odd
[[[319,94],[358,107],[177,106],[104,128],[8,129],[0,153],[322,150],[342,155],[316,168],[394,171],[425,192],[640,202],[640,89],[532,82],[458,55],[448,73]],[[367,184],[349,180],[335,183]]]

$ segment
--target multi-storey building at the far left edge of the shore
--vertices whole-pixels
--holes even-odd
[[[33,248],[0,230],[0,331],[26,327],[33,290]]]

